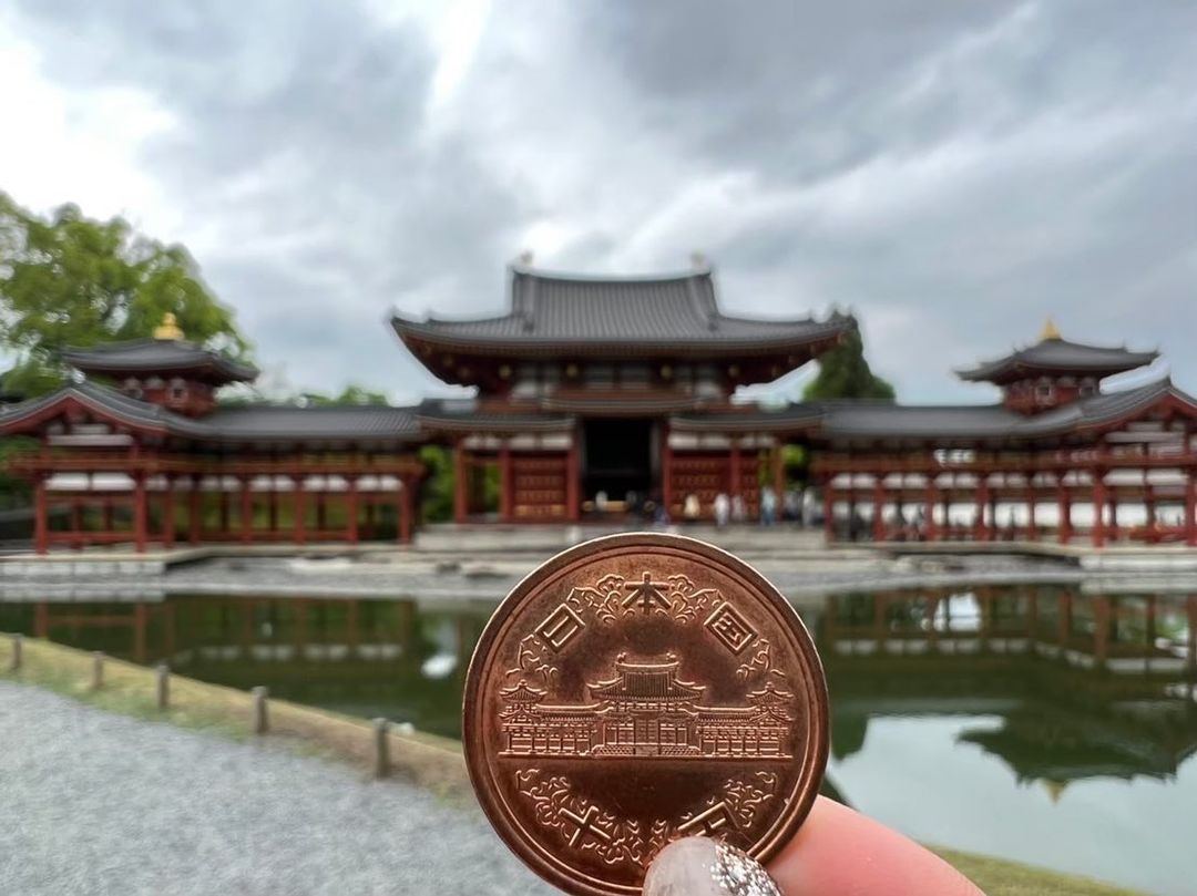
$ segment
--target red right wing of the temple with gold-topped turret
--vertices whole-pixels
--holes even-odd
[[[1197,401],[1168,378],[1100,388],[1156,356],[1070,342],[1049,321],[1029,348],[959,372],[998,386],[999,403],[798,406],[761,423],[815,446],[828,540],[865,522],[874,541],[1037,541],[1050,525],[1062,544],[1195,545]],[[1119,525],[1125,505],[1141,511],[1132,525]]]

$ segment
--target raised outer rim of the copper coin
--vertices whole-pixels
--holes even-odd
[[[827,694],[827,676],[824,671],[822,660],[819,657],[819,651],[815,647],[814,639],[810,636],[810,632],[802,622],[802,617],[798,616],[794,605],[785,599],[785,596],[782,595],[782,592],[778,591],[777,587],[751,563],[741,560],[723,548],[698,538],[667,532],[620,532],[616,535],[600,536],[581,544],[575,544],[573,547],[566,548],[559,554],[549,557],[524,575],[515,585],[515,587],[511,589],[508,596],[494,609],[494,612],[491,614],[491,618],[487,620],[486,627],[482,629],[482,634],[478,639],[474,653],[469,660],[469,670],[466,673],[466,688],[462,696],[462,750],[464,752],[466,769],[469,774],[474,794],[482,807],[482,812],[490,821],[491,827],[494,828],[496,833],[506,847],[519,857],[519,859],[542,879],[554,886],[578,894],[578,896],[627,896],[630,892],[637,892],[637,889],[622,885],[595,886],[587,880],[582,880],[578,877],[565,873],[558,865],[549,864],[545,860],[545,858],[540,854],[540,849],[543,849],[543,847],[540,847],[534,842],[529,842],[529,839],[524,836],[522,828],[515,823],[508,811],[504,811],[502,801],[497,799],[497,793],[492,792],[496,788],[493,782],[490,780],[490,763],[487,762],[488,754],[482,748],[484,740],[480,737],[481,700],[479,699],[479,688],[491,647],[493,646],[499,630],[503,628],[504,622],[543,578],[552,574],[560,567],[575,562],[578,560],[579,555],[584,556],[587,554],[594,554],[608,548],[627,547],[667,547],[689,550],[704,556],[707,560],[713,560],[724,566],[729,566],[733,571],[742,573],[745,578],[754,584],[759,589],[759,593],[773,604],[774,610],[779,611],[782,617],[791,622],[795,627],[795,640],[797,641],[801,658],[809,664],[809,673],[812,677],[812,681],[807,687],[807,693],[814,697],[815,706],[810,713],[808,740],[814,744],[814,750],[807,750],[807,754],[812,756],[812,762],[794,787],[792,792],[796,794],[795,798],[773,823],[773,835],[753,845],[753,847],[748,851],[749,855],[761,863],[768,861],[794,837],[795,833],[810,812],[810,806],[814,805],[815,797],[819,793],[819,782],[822,780],[826,770],[827,754],[830,749],[828,720],[831,718],[831,707]],[[559,865],[567,867],[564,861],[559,861]],[[594,878],[591,878],[591,880],[593,879]],[[615,889],[616,886],[618,889]]]

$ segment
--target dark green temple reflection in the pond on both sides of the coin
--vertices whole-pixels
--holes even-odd
[[[0,603],[0,630],[456,736],[461,679],[492,609],[214,596]],[[1197,596],[942,587],[840,595],[803,616],[827,669],[839,757],[862,748],[870,721],[910,715],[984,717],[961,743],[1020,780],[1168,776],[1197,750]]]

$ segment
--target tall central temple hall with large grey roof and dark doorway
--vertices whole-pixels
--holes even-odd
[[[710,517],[719,492],[755,516],[761,477],[784,484],[780,441],[753,429],[733,392],[801,367],[855,327],[838,315],[728,316],[705,266],[657,278],[516,267],[510,289],[502,317],[391,322],[435,376],[478,390],[417,412],[424,432],[454,446],[458,523],[488,510],[487,465],[503,522],[577,522],[645,500],[682,519],[689,494]]]

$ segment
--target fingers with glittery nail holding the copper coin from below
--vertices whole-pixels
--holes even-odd
[[[772,879],[770,878],[772,876]],[[859,812],[819,797],[768,873],[706,837],[654,859],[644,896],[984,896],[943,859]]]

